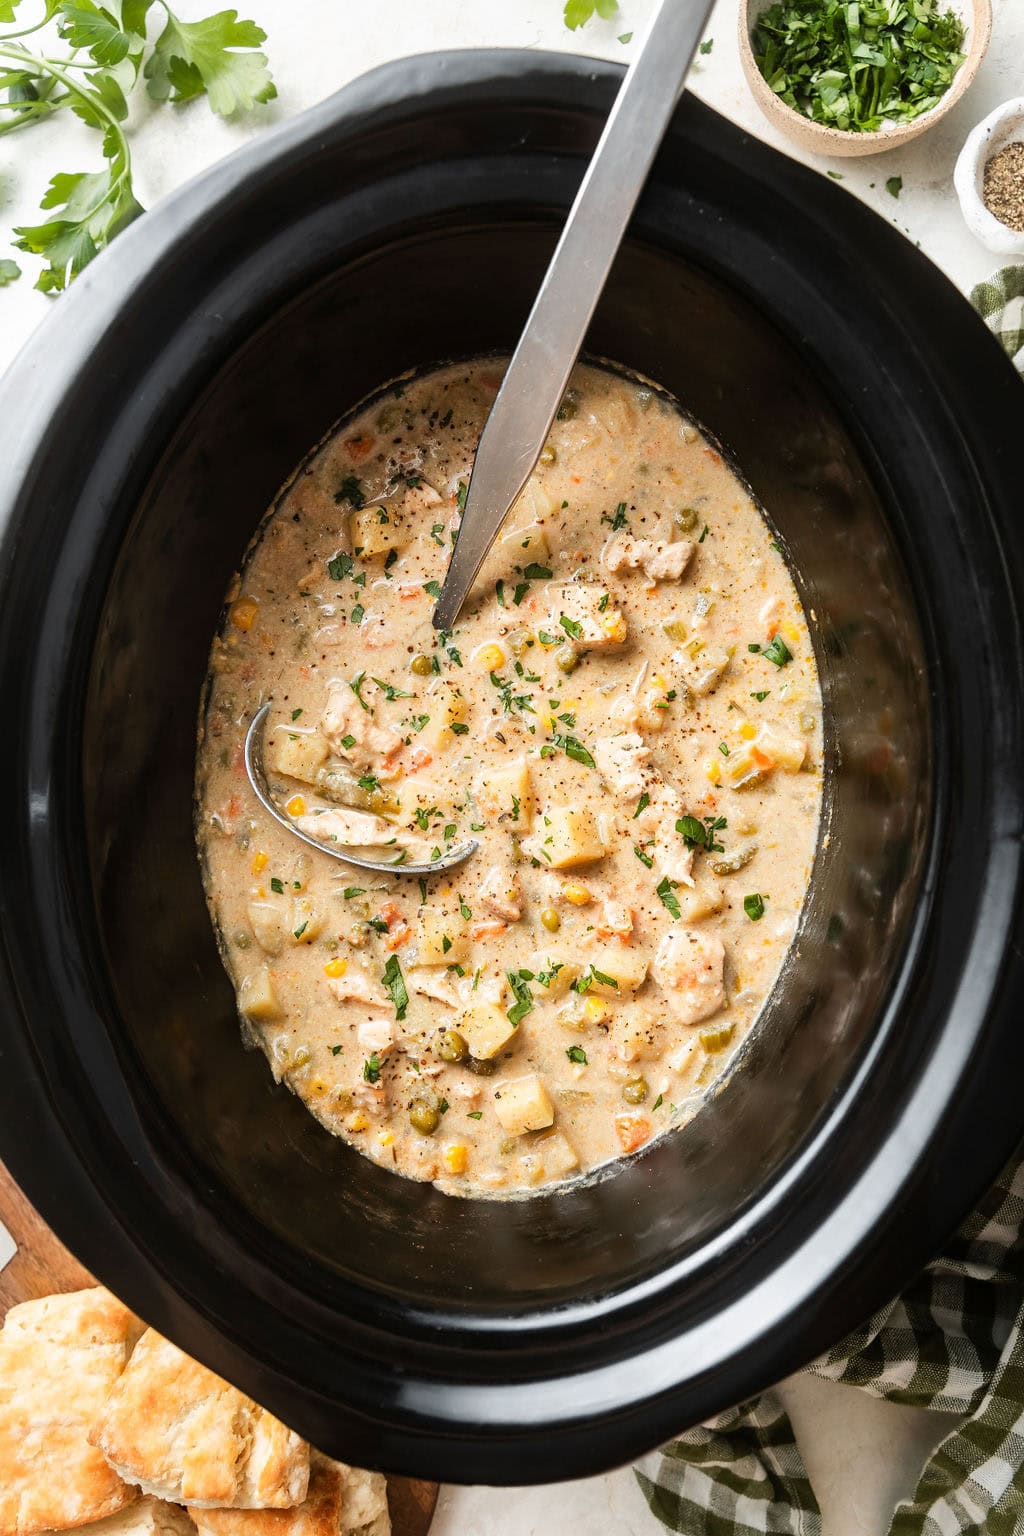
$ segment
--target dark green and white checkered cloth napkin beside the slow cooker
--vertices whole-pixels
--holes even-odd
[[[970,295],[1024,373],[1024,267]],[[811,1370],[890,1402],[961,1415],[889,1536],[1024,1536],[1024,1149],[949,1250]],[[774,1392],[636,1468],[651,1511],[686,1536],[820,1536],[821,1513]]]

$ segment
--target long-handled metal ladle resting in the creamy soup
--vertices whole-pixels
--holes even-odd
[[[626,71],[586,175],[519,338],[481,445],[433,625],[451,630],[516,498],[533,475],[586,327],[603,292],[626,224],[683,91],[712,0],[660,0],[643,45]],[[301,833],[270,797],[263,765],[263,727],[270,705],[246,734],[246,773],[266,811],[295,837],[359,869],[438,874],[462,863],[479,843],[459,843],[433,863],[362,859],[338,843]]]

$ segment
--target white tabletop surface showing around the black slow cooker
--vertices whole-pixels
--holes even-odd
[[[570,34],[562,0],[238,0],[269,34],[267,51],[279,100],[236,124],[215,121],[201,103],[181,112],[134,118],[138,194],[152,204],[204,166],[244,143],[267,123],[329,95],[388,58],[434,48],[502,45],[559,48],[628,60],[651,0],[622,0],[614,22]],[[216,9],[213,0],[177,0],[181,17]],[[993,0],[995,31],[981,74],[949,118],[917,143],[858,161],[815,161],[838,170],[843,186],[903,229],[969,289],[996,267],[966,230],[952,190],[952,169],[969,129],[1024,88],[1024,0]],[[788,146],[768,127],[740,75],[734,48],[737,0],[718,0],[708,26],[709,55],[691,77],[692,89],[752,132]],[[617,41],[634,32],[633,45]],[[94,135],[75,120],[58,120],[0,141],[0,257],[15,255],[25,276],[0,290],[0,369],[46,313],[35,293],[31,258],[8,249],[11,224],[34,221],[48,178],[57,169],[91,169]],[[886,192],[903,177],[903,194]],[[864,1393],[801,1378],[785,1385],[808,1468],[824,1510],[824,1536],[883,1536],[898,1498],[909,1495],[929,1448],[947,1419],[880,1404]],[[628,1468],[547,1488],[445,1488],[434,1536],[656,1536]]]

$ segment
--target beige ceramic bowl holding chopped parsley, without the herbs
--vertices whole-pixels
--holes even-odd
[[[887,149],[898,149],[901,144],[909,144],[912,138],[926,134],[950,108],[956,106],[978,74],[978,66],[989,48],[992,38],[992,0],[950,0],[950,3],[964,20],[967,57],[946,95],[930,112],[923,112],[909,123],[886,124],[874,134],[851,134],[838,127],[827,127],[824,123],[814,123],[809,117],[786,106],[769,88],[757,68],[751,46],[754,25],[758,15],[768,9],[771,0],[742,0],[740,3],[740,63],[743,65],[746,83],[769,123],[774,123],[794,144],[809,154],[852,157],[878,155]]]

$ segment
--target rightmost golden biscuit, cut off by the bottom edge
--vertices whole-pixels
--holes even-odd
[[[313,1452],[306,1502],[293,1510],[189,1508],[200,1536],[388,1536],[387,1481]]]

